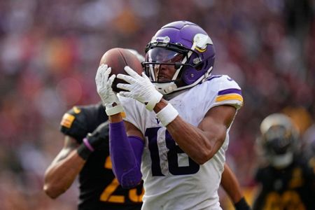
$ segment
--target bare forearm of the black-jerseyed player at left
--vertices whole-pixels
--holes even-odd
[[[43,190],[51,198],[58,197],[71,186],[84,165],[85,160],[76,150],[59,162],[52,162],[45,172]]]

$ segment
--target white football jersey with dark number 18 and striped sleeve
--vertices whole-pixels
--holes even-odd
[[[142,209],[221,209],[218,187],[228,148],[225,142],[211,160],[198,165],[184,153],[163,127],[154,111],[134,99],[120,97],[126,117],[144,134],[141,172],[144,179]],[[228,76],[212,76],[169,100],[179,116],[197,127],[214,106],[243,104],[241,88]]]

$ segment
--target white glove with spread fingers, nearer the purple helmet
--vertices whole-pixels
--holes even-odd
[[[125,66],[125,71],[129,75],[119,73],[117,78],[125,80],[129,84],[118,83],[117,87],[129,92],[120,91],[119,94],[123,97],[132,97],[137,101],[146,105],[146,109],[153,111],[155,104],[158,104],[162,99],[162,94],[155,89],[151,80],[143,72],[142,76],[132,70],[130,66]]]

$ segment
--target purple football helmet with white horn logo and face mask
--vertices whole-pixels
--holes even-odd
[[[193,22],[163,26],[146,46],[146,75],[162,94],[193,87],[209,78],[214,66],[214,44],[207,32]],[[162,66],[174,66],[172,80]]]

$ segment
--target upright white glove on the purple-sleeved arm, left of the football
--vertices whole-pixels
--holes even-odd
[[[116,75],[113,74],[109,78],[110,73],[111,67],[107,66],[106,64],[101,64],[99,69],[97,69],[97,75],[95,77],[97,93],[102,99],[102,104],[105,106],[107,116],[112,116],[116,113],[124,111],[116,93],[113,92],[113,89],[111,88]]]

